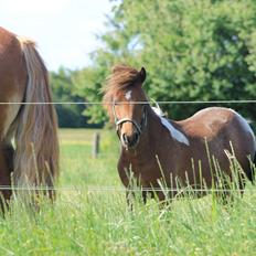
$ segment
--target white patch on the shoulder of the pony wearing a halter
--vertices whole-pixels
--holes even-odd
[[[170,121],[168,121],[167,118],[164,118],[164,114],[159,107],[152,107],[153,111],[158,115],[158,117],[161,120],[161,124],[170,131],[170,135],[173,139],[177,141],[184,143],[184,145],[190,145],[189,139],[178,129],[175,129]]]

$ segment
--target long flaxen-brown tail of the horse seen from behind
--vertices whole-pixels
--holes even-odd
[[[18,117],[13,181],[17,186],[53,186],[58,177],[57,118],[46,67],[33,41],[18,38],[28,84]]]

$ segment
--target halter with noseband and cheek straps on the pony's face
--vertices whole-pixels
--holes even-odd
[[[117,115],[116,115],[116,110],[115,110],[115,103],[113,103],[113,115],[115,118],[116,131],[117,131],[117,135],[119,138],[120,138],[120,135],[118,132],[119,126],[121,126],[124,122],[131,122],[135,126],[139,137],[142,134],[142,129],[147,126],[147,108],[146,108],[146,106],[143,106],[143,113],[142,113],[142,118],[141,118],[140,124],[138,124],[136,120],[132,120],[128,117],[125,117],[125,118],[121,118],[120,120],[118,120]]]

